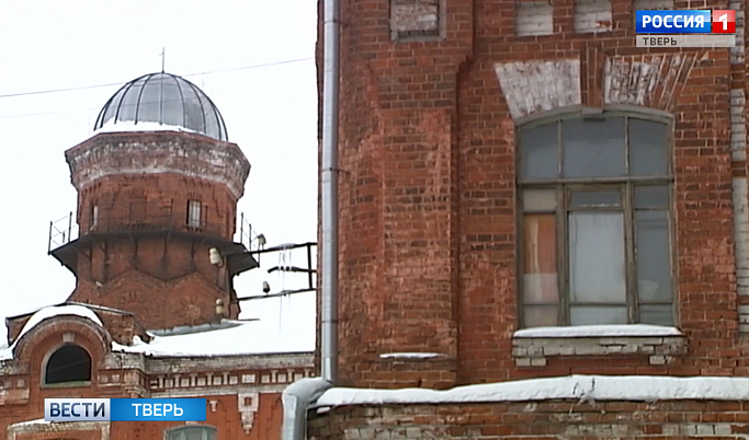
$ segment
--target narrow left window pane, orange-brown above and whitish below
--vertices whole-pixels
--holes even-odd
[[[532,215],[525,216],[524,221],[523,303],[556,303],[556,217]]]

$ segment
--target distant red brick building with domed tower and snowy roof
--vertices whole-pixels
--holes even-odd
[[[258,267],[251,231],[234,241],[250,164],[220,113],[189,81],[154,73],[120,89],[94,130],[66,151],[75,223],[50,225],[49,253],[76,288],[7,320],[0,437],[277,438],[281,391],[313,373],[314,331],[239,319],[232,279]],[[50,424],[45,397],[201,397],[207,418]]]

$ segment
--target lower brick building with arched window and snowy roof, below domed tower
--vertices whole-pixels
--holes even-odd
[[[129,312],[65,303],[9,323],[21,331],[0,350],[0,432],[13,440],[276,439],[281,392],[313,373],[310,338],[272,340],[277,322],[146,332]],[[47,422],[47,397],[205,398],[206,420]]]

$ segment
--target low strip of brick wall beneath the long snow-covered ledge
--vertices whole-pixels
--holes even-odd
[[[344,406],[311,415],[309,438],[343,439],[737,439],[745,402],[543,403]]]

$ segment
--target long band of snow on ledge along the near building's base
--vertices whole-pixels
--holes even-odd
[[[564,378],[425,389],[373,390],[334,387],[315,406],[527,402],[546,400],[595,401],[749,401],[749,378],[674,378],[652,375],[569,375]]]

